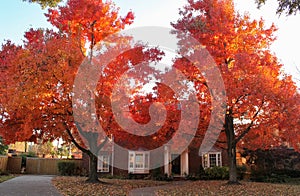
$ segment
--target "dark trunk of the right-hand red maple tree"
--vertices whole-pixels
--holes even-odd
[[[233,126],[232,111],[229,110],[225,118],[225,132],[227,138],[227,154],[229,159],[229,181],[228,184],[239,184],[236,168],[236,143]]]

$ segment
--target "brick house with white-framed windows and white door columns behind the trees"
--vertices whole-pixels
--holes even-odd
[[[126,150],[108,143],[98,154],[98,172],[111,175],[149,175],[151,168],[160,166],[161,174],[186,176],[200,171],[200,167],[223,166],[226,152],[213,147],[207,154],[199,155],[199,149],[189,147],[176,152],[171,146],[163,146],[160,151],[143,148]],[[88,157],[84,158],[88,162]],[[86,164],[87,166],[87,164]]]

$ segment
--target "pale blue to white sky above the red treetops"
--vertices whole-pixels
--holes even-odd
[[[120,7],[121,15],[128,11],[135,13],[135,22],[131,27],[164,26],[171,27],[170,22],[178,18],[178,9],[186,4],[186,0],[114,0]],[[284,64],[285,72],[300,80],[300,13],[296,16],[275,14],[277,3],[268,0],[266,5],[257,9],[255,0],[234,0],[236,10],[240,13],[248,12],[253,19],[263,18],[267,25],[274,23],[278,27],[275,34],[277,40],[271,49]],[[30,4],[22,0],[1,0],[0,4],[0,44],[5,40],[22,44],[24,32],[30,28],[51,28],[38,4]],[[298,82],[300,86],[300,82]]]

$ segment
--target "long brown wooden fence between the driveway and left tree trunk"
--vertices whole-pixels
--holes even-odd
[[[82,169],[82,159],[47,159],[47,158],[27,158],[26,173],[41,175],[59,175],[58,162],[74,162],[75,166]]]

